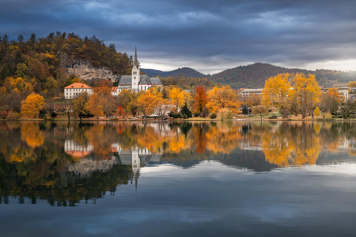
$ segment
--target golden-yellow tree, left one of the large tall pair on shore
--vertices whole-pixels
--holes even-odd
[[[266,80],[265,88],[262,90],[262,104],[266,107],[276,107],[283,109],[288,99],[291,88],[289,73],[278,74]]]

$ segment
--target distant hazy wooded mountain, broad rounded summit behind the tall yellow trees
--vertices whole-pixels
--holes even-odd
[[[227,69],[208,77],[208,79],[210,81],[230,85],[235,89],[244,87],[263,88],[266,79],[284,72],[303,72],[304,74],[315,73],[315,71],[305,69],[282,68],[267,63],[254,63],[247,66],[238,66],[236,68]]]

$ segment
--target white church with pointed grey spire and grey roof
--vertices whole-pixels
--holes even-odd
[[[163,86],[159,77],[149,77],[147,75],[140,75],[140,66],[137,61],[137,52],[135,48],[135,60],[132,67],[131,75],[122,75],[120,77],[118,92],[122,90],[136,90],[147,91],[153,86]]]

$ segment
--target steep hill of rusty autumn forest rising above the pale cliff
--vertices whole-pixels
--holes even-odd
[[[95,36],[80,38],[57,31],[39,38],[19,35],[12,41],[7,35],[0,37],[0,86],[6,77],[21,77],[31,82],[35,92],[51,91],[54,86],[61,91],[72,83],[66,70],[78,62],[115,75],[131,74],[133,64],[132,57],[116,52],[114,44],[107,47]]]

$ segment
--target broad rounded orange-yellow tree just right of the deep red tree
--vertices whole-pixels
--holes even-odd
[[[208,98],[209,102],[206,107],[213,113],[217,113],[221,108],[227,108],[233,113],[237,113],[241,106],[236,91],[230,86],[214,87],[213,90],[208,91]]]

